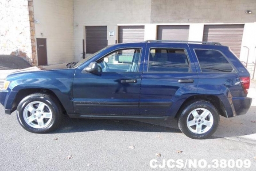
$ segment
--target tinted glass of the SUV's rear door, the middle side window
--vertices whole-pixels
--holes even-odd
[[[188,72],[189,62],[184,49],[151,49],[148,72]]]

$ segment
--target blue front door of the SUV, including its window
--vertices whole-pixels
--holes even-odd
[[[143,46],[118,49],[96,60],[98,72],[74,76],[76,114],[139,114]]]

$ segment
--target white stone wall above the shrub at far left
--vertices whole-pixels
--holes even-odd
[[[27,0],[0,1],[0,54],[16,55],[33,63]]]

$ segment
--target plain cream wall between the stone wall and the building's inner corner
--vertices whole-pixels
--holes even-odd
[[[35,37],[47,38],[48,64],[74,61],[73,0],[34,0]]]

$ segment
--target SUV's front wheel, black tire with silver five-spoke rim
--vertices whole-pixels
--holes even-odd
[[[48,133],[56,129],[62,117],[60,103],[48,94],[28,95],[17,107],[19,124],[31,133]]]

